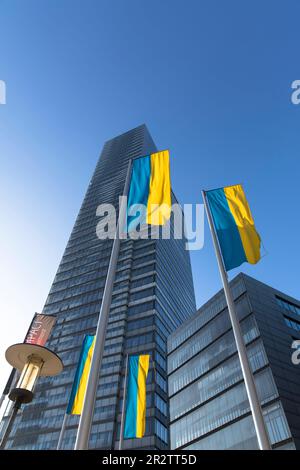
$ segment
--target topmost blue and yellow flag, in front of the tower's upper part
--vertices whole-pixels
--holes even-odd
[[[139,224],[164,225],[171,215],[169,151],[133,160],[127,201],[127,230]]]

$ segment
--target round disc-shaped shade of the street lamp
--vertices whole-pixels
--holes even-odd
[[[44,362],[39,374],[42,377],[57,375],[63,370],[63,363],[58,355],[43,346],[29,343],[13,344],[5,353],[7,362],[20,371],[32,355],[41,358]]]

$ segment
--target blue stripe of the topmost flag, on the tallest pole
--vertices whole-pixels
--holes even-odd
[[[149,185],[151,174],[151,160],[150,155],[146,157],[137,158],[133,161],[131,182],[127,200],[127,230],[135,230],[139,224],[146,223],[147,204],[149,197]],[[134,209],[136,204],[142,204],[140,207],[141,212],[137,215],[129,215],[128,210]],[[136,207],[138,209],[138,207]]]

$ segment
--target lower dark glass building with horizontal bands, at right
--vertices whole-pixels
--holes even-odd
[[[239,274],[231,284],[273,448],[300,449],[300,302]],[[223,290],[168,340],[172,449],[257,449]]]

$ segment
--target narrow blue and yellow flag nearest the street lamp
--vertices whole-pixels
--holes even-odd
[[[95,345],[95,336],[86,335],[82,344],[79,362],[67,407],[67,414],[80,415],[91,368],[92,355]]]

